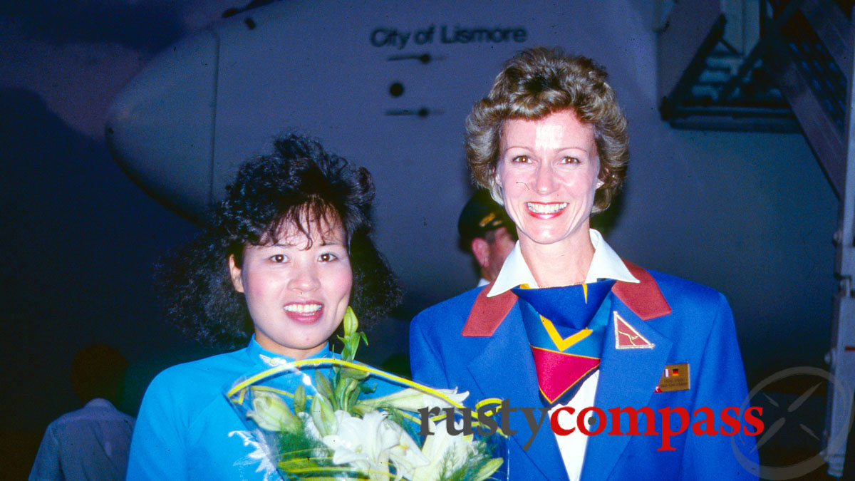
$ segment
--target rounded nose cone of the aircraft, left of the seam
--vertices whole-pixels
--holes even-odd
[[[206,30],[162,51],[114,99],[107,119],[122,169],[197,218],[212,202],[219,44]]]

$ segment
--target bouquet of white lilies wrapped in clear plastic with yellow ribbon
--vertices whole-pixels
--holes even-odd
[[[345,336],[339,337],[341,359],[294,361],[243,377],[227,389],[228,400],[262,446],[262,465],[275,467],[286,480],[506,479],[500,433],[449,434],[461,432],[451,414],[469,393],[430,389],[355,363],[365,340],[357,326],[348,308]],[[378,395],[372,385],[378,379],[386,390],[398,390]],[[418,416],[436,407],[439,416]],[[447,423],[457,429],[447,429]],[[433,434],[422,436],[426,427]]]

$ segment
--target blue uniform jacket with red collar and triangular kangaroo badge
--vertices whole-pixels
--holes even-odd
[[[604,338],[594,406],[610,408],[652,407],[656,432],[662,433],[664,407],[685,407],[693,416],[699,407],[715,415],[715,430],[722,430],[721,413],[739,409],[736,418],[749,431],[742,407],[746,379],[734,330],[733,314],[722,294],[674,276],[640,269],[626,263],[639,284],[616,282],[610,292],[611,310]],[[410,325],[410,362],[413,377],[440,388],[469,391],[469,407],[486,398],[510,401],[511,407],[542,407],[537,374],[516,296],[510,292],[487,298],[490,286],[476,288],[430,307]],[[619,347],[616,317],[622,318],[652,347]],[[654,392],[666,365],[689,365],[690,389]],[[540,420],[540,411],[535,411]],[[734,414],[733,411],[730,412]],[[627,415],[628,416],[628,415]],[[563,416],[562,416],[562,419]],[[640,431],[645,431],[640,416]],[[680,425],[670,417],[672,430]],[[753,479],[758,457],[753,436],[743,434],[695,435],[692,427],[670,439],[673,451],[659,451],[661,436],[591,436],[582,466],[583,481],[604,479]],[[550,419],[544,419],[528,450],[522,447],[532,431],[522,413],[510,413],[510,479],[567,479]],[[628,431],[621,418],[619,431]],[[572,427],[572,426],[563,426]],[[700,429],[706,430],[701,425]],[[724,425],[725,431],[734,431]],[[735,450],[733,446],[735,446]]]

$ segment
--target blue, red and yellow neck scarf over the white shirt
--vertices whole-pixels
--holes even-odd
[[[614,280],[561,288],[511,289],[519,297],[546,407],[567,404],[599,367]]]

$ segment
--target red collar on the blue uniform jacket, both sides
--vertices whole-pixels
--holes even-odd
[[[611,292],[642,320],[646,321],[670,314],[671,306],[668,305],[668,301],[665,300],[650,272],[627,261],[623,261],[623,264],[626,264],[629,272],[640,282],[615,282]],[[472,311],[469,312],[469,318],[466,319],[466,324],[463,326],[461,333],[463,337],[492,336],[492,333],[495,332],[499,324],[502,324],[504,317],[516,304],[516,294],[511,291],[487,297],[486,294],[490,292],[491,288],[492,282],[481,289],[475,299]]]

